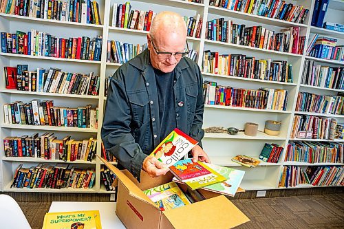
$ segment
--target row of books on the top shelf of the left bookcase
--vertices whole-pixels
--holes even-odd
[[[1,0],[0,12],[37,19],[102,24],[96,0]]]

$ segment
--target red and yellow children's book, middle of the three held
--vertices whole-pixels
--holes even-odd
[[[191,159],[176,162],[170,166],[170,170],[180,182],[187,184],[192,190],[226,180],[226,177],[203,162],[193,162]]]

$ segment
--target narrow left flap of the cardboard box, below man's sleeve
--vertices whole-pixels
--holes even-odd
[[[97,156],[99,157],[99,155],[97,155]],[[138,186],[136,186],[136,184],[134,184],[131,181],[131,179],[129,179],[124,173],[122,173],[122,171],[120,171],[118,168],[116,168],[115,166],[113,166],[112,164],[110,164],[109,162],[104,160],[102,157],[99,157],[99,159],[102,162],[104,162],[104,164],[107,166],[107,168],[109,168],[113,173],[116,174],[116,177],[120,180],[120,182],[122,182],[122,184],[125,186],[125,188],[127,188],[127,190],[129,190],[129,195],[136,197],[138,199],[141,199],[142,201],[147,202],[148,204],[155,206],[153,201],[151,201],[151,199],[149,199],[149,197],[147,197],[147,195],[144,195],[142,190],[140,188],[138,188]]]

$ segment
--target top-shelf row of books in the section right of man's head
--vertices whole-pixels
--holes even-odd
[[[301,24],[309,12],[303,6],[281,0],[210,0],[209,5]]]

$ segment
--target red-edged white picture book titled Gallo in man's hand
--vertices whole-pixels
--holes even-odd
[[[175,128],[160,142],[151,155],[169,167],[182,159],[196,144],[198,144],[196,140]]]

